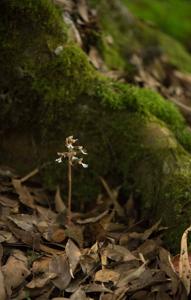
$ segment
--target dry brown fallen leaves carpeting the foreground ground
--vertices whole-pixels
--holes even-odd
[[[55,197],[39,185],[37,193],[32,176],[0,176],[0,186],[9,186],[0,188],[0,299],[188,299],[190,228],[172,258],[162,247],[160,220],[150,228],[134,214],[130,220],[118,189],[103,178],[104,205],[73,213],[68,225],[59,219],[67,210],[60,188]]]

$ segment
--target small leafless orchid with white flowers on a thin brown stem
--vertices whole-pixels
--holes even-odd
[[[87,168],[88,165],[83,162],[83,157],[79,157],[79,155],[87,155],[88,153],[83,148],[83,146],[76,146],[76,142],[78,139],[74,139],[71,135],[66,138],[65,146],[67,151],[58,152],[58,158],[56,162],[62,163],[64,159],[68,161],[68,224],[71,223],[72,219],[72,167],[74,165],[81,165],[83,168]]]

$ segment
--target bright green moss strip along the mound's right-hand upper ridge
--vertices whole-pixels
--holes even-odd
[[[171,102],[149,89],[141,89],[129,84],[98,81],[96,94],[104,105],[115,110],[127,109],[142,115],[152,114],[166,123],[187,150],[191,151],[191,135],[183,116]]]

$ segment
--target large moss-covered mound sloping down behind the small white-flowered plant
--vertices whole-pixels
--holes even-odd
[[[51,187],[64,184],[66,190],[66,165],[56,165],[55,158],[65,137],[74,135],[89,153],[88,170],[74,170],[74,206],[97,197],[103,176],[114,187],[122,184],[127,195],[133,192],[142,215],[162,216],[176,248],[191,215],[191,134],[181,114],[157,93],[95,71],[86,54],[67,43],[60,12],[54,6],[45,9],[50,1],[6,0],[2,5],[7,14],[0,18],[1,163],[27,172],[49,162],[44,180]],[[41,6],[51,22],[36,31],[30,21],[40,20]],[[8,23],[9,29],[14,24],[15,39],[5,30]],[[24,43],[23,31],[35,44],[30,36]]]

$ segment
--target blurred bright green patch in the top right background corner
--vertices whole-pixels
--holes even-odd
[[[159,27],[191,51],[190,0],[122,0],[134,15]]]

